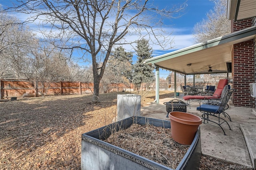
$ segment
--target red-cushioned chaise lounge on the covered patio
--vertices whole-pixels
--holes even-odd
[[[189,104],[191,103],[191,100],[201,101],[207,99],[218,99],[221,97],[225,85],[228,85],[228,79],[220,79],[217,89],[214,91],[213,95],[186,95],[183,99],[187,100]]]

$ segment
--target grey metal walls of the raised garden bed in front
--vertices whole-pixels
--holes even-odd
[[[104,142],[113,130],[128,128],[133,123],[150,124],[156,127],[170,128],[170,121],[145,117],[129,117],[90,132],[82,134],[81,169],[112,170],[172,170],[162,164]],[[101,139],[101,140],[100,140]],[[200,127],[195,138],[176,170],[198,169],[201,158]]]

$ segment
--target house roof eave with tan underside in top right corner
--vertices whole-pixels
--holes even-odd
[[[242,20],[256,16],[256,0],[228,0],[227,18]]]

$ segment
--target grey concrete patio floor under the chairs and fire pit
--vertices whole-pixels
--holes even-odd
[[[151,103],[151,105],[142,107],[141,116],[170,120],[166,118],[166,105],[163,103],[172,99],[174,98],[160,99],[159,104]],[[182,95],[178,96],[177,99],[183,100]],[[232,130],[229,130],[228,125],[223,124],[222,127],[226,135],[224,135],[221,128],[204,123],[200,125],[202,154],[213,156],[230,163],[244,166],[254,165],[255,167],[256,112],[252,108],[235,107],[231,101],[229,101],[229,104],[230,108],[226,110],[226,113],[230,115],[232,122],[227,118],[225,120],[229,123]],[[193,103],[191,108],[188,106],[187,113],[192,113],[200,117],[202,113],[196,110],[198,106],[198,102]],[[224,118],[223,115],[221,117]]]

